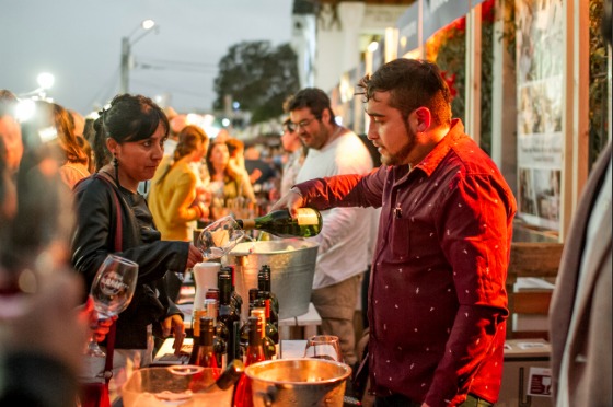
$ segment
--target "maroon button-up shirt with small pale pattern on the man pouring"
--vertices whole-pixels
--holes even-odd
[[[435,407],[470,392],[495,403],[516,201],[462,123],[410,172],[381,166],[298,187],[317,209],[382,207],[368,310],[377,394]]]

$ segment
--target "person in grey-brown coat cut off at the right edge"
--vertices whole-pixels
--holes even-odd
[[[612,1],[603,5],[602,35],[611,53]],[[609,139],[564,242],[550,307],[552,393],[558,407],[613,406],[611,167]]]

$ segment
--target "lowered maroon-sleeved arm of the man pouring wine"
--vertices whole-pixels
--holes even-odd
[[[447,405],[494,349],[501,356],[508,315],[505,280],[514,201],[487,175],[456,182],[436,209],[439,240],[453,268],[459,310],[426,396],[429,406]],[[500,363],[502,359],[500,358]]]

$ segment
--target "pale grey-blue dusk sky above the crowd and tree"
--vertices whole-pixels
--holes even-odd
[[[152,19],[158,33],[132,46],[137,67],[129,92],[166,96],[180,113],[208,111],[228,48],[243,40],[289,42],[292,2],[2,0],[0,89],[24,94],[38,88],[38,73],[50,72],[55,84],[48,96],[88,114],[119,90],[122,37]]]

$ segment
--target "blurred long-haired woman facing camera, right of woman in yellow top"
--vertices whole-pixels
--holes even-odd
[[[241,154],[242,155],[242,154]],[[219,219],[232,211],[243,210],[255,202],[255,196],[244,165],[240,160],[230,164],[228,142],[217,139],[207,152],[209,182],[206,186],[211,196],[210,214]]]

